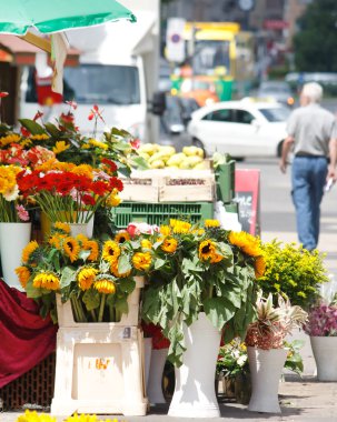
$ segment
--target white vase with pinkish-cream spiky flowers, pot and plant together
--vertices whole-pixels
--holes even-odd
[[[301,326],[306,319],[307,312],[298,305],[293,307],[288,299],[278,295],[276,308],[271,293],[267,299],[259,294],[257,320],[249,325],[246,335],[252,384],[248,410],[280,413],[277,393],[287,358],[285,338],[295,326]]]

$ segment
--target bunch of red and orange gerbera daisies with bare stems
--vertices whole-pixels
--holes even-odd
[[[100,205],[116,207],[120,202],[122,182],[108,174],[117,168],[113,162],[103,165],[102,170],[49,160],[18,174],[18,185],[26,198],[36,200],[50,221],[87,223]]]

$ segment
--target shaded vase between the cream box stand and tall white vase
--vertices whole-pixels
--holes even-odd
[[[151,404],[166,403],[162,394],[162,373],[168,349],[152,349],[149,380],[147,384],[148,399]]]

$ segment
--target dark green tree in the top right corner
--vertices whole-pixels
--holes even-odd
[[[298,71],[337,72],[337,1],[314,0],[294,37]]]

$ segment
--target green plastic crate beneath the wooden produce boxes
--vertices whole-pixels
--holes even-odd
[[[163,224],[169,219],[188,217],[192,223],[214,218],[212,202],[139,203],[122,202],[112,209],[112,220],[117,228],[125,229],[130,222]]]

